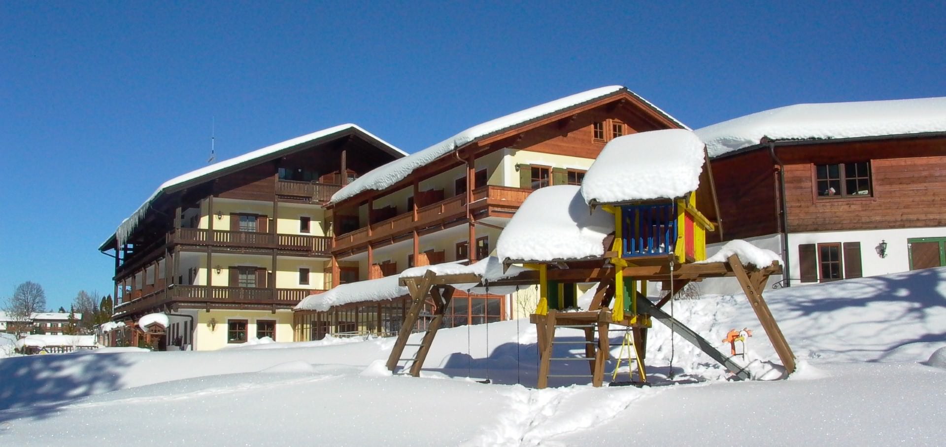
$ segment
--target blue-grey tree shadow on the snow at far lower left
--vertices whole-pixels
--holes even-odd
[[[65,403],[122,387],[131,362],[120,353],[0,359],[0,422],[46,418]]]

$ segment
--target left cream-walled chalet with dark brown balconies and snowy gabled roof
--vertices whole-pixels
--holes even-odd
[[[99,247],[114,253],[114,321],[170,313],[168,341],[197,349],[292,341],[292,307],[332,284],[325,204],[404,155],[349,124],[169,180]]]

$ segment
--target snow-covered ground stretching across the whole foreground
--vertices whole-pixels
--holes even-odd
[[[946,347],[946,269],[766,291],[765,297],[799,361],[785,381],[728,382],[722,367],[679,337],[672,344],[657,322],[646,362],[654,385],[644,388],[530,388],[535,331],[524,320],[440,331],[419,379],[387,374],[383,361],[393,339],[213,352],[98,349],[0,359],[0,441],[942,444],[946,349],[933,354]],[[727,331],[753,330],[745,363],[756,377],[780,375],[745,296],[677,300],[673,312],[724,351]],[[568,331],[559,335],[580,336]],[[613,335],[620,342],[622,333]],[[553,364],[553,372],[587,372],[577,350],[555,356],[576,360]]]

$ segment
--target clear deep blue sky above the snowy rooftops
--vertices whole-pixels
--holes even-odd
[[[407,152],[623,84],[693,128],[946,96],[946,7],[622,2],[0,4],[0,298],[111,294],[97,252],[168,178],[355,122]]]

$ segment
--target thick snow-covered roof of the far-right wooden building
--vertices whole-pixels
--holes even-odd
[[[771,140],[946,132],[946,97],[795,104],[697,129],[710,157]]]

